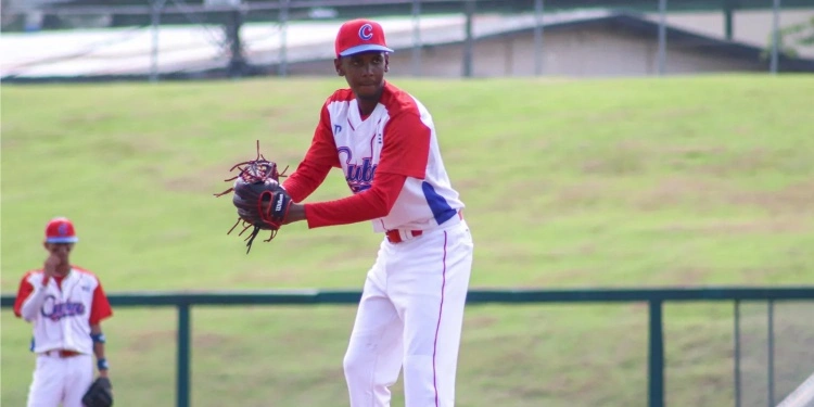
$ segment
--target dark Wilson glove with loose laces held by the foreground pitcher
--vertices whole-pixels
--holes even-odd
[[[233,181],[232,187],[228,190],[216,193],[215,196],[222,196],[229,192],[232,195],[232,204],[238,209],[238,221],[226,234],[229,234],[238,227],[243,226],[243,232],[253,228],[246,237],[246,254],[252,250],[252,242],[260,230],[270,230],[271,234],[264,242],[270,242],[277,236],[277,231],[285,220],[285,215],[291,207],[291,196],[280,185],[280,177],[284,177],[288,169],[282,173],[277,170],[277,163],[266,160],[260,154],[260,143],[257,141],[257,157],[251,161],[234,164],[229,171],[240,170],[237,176],[226,179],[226,182]],[[264,205],[265,202],[265,205]]]

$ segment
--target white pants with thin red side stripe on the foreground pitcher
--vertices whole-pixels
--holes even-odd
[[[389,407],[402,369],[406,407],[455,405],[472,251],[463,220],[382,242],[343,364],[351,407]]]

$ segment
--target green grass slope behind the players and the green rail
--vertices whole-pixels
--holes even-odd
[[[814,282],[814,76],[393,81],[434,114],[475,239],[473,288]],[[226,234],[230,201],[212,195],[257,139],[296,166],[343,85],[4,86],[2,292],[41,266],[42,228],[58,215],[80,234],[74,263],[109,292],[360,289],[381,239],[368,224],[292,225],[246,255]],[[310,200],[347,193],[335,173]],[[747,330],[762,328],[755,313]],[[786,314],[784,327],[814,339],[811,318]],[[193,406],[346,406],[353,317],[194,308]],[[665,318],[667,405],[732,405],[732,305],[667,305]],[[0,321],[0,404],[22,406],[29,327],[9,309]],[[118,405],[170,405],[175,323],[169,308],[117,309],[106,322]],[[461,407],[646,403],[640,304],[478,306],[465,323]],[[814,369],[800,360],[778,369]]]

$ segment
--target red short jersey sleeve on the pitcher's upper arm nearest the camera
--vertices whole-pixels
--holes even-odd
[[[423,179],[431,137],[432,130],[418,114],[408,112],[396,115],[384,128],[384,145],[376,171]]]

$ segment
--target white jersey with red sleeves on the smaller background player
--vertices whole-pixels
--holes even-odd
[[[78,267],[62,279],[49,279],[46,287],[43,278],[41,270],[27,272],[14,305],[14,313],[34,325],[31,351],[92,354],[90,326],[112,315],[99,279]]]

